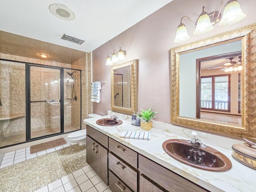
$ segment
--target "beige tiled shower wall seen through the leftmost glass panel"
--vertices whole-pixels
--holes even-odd
[[[4,54],[1,54],[4,56]],[[25,132],[25,65],[0,61],[1,74],[1,92],[2,101],[1,114],[22,114],[21,117],[12,120],[1,120],[2,134],[15,134],[16,132]]]

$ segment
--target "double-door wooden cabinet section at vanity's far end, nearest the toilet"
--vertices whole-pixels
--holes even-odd
[[[86,161],[108,185],[108,136],[86,126]]]

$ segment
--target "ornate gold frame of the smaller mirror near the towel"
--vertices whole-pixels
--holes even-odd
[[[130,90],[131,90],[131,108],[124,108],[114,106],[114,70],[130,66]],[[111,67],[111,110],[124,113],[133,114],[137,111],[137,59],[125,62],[123,64]]]

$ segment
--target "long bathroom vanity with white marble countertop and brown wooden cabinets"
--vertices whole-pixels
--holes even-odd
[[[208,146],[225,154],[232,162],[232,168],[226,172],[210,172],[182,164],[168,156],[162,149],[165,140],[187,139],[188,137],[184,138],[180,135],[189,135],[191,130],[153,122],[154,128],[148,131],[151,133],[151,140],[136,140],[120,138],[118,135],[124,130],[144,131],[140,127],[132,126],[129,121],[122,120],[123,124],[119,126],[107,127],[96,124],[96,120],[94,118],[84,120],[87,124],[87,162],[100,178],[109,184],[112,192],[239,192],[253,191],[256,188],[253,179],[256,171],[232,158],[232,145],[229,150],[226,146],[220,146],[221,144],[214,146],[211,140],[206,142]],[[214,140],[221,138],[213,137],[217,137]],[[233,144],[241,143],[238,140],[225,139]]]

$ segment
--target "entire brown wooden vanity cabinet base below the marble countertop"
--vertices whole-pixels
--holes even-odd
[[[112,192],[206,192],[190,180],[86,126],[86,159]]]

